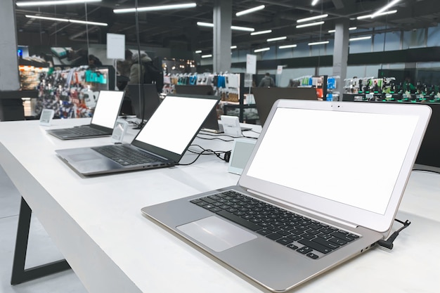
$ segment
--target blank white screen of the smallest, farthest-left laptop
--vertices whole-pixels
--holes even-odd
[[[91,124],[113,128],[123,97],[123,91],[100,91]]]

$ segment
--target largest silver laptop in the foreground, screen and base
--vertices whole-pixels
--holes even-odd
[[[285,292],[387,237],[430,113],[278,100],[237,185],[141,211],[246,280]]]

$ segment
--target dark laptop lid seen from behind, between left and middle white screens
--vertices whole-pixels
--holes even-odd
[[[129,93],[131,96],[131,107],[134,110],[134,114],[139,119],[150,119],[153,112],[160,104],[160,98],[157,94],[155,84],[141,84],[143,87],[143,98],[139,93],[139,84],[128,84]],[[142,112],[144,111],[144,112]]]

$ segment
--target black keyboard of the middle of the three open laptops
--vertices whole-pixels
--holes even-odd
[[[147,164],[157,162],[159,159],[148,155],[145,152],[134,150],[126,145],[104,145],[101,147],[92,148],[101,155],[112,159],[113,161],[122,164],[122,166],[131,166],[136,164]]]

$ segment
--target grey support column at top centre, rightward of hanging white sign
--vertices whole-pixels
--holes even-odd
[[[231,70],[232,0],[214,0],[212,66],[214,72]]]

